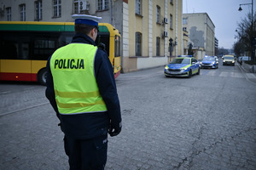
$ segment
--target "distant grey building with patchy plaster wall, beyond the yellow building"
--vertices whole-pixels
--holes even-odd
[[[189,32],[189,43],[198,59],[215,55],[215,26],[207,13],[183,14],[183,30]]]

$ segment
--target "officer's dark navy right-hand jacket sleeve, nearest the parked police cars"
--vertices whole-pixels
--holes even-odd
[[[113,67],[102,49],[98,49],[95,58],[96,82],[102,99],[108,108],[111,126],[121,127],[121,111],[119,105],[119,96],[117,94],[116,84],[113,76]]]

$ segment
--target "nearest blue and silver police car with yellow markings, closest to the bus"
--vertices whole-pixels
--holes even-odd
[[[166,77],[191,77],[194,74],[200,74],[200,64],[191,55],[179,55],[165,68]]]

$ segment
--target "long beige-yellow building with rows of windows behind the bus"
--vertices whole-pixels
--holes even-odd
[[[102,16],[122,36],[122,71],[166,65],[186,54],[182,0],[1,0],[0,20],[73,21],[72,14]],[[172,38],[172,53],[169,40]]]

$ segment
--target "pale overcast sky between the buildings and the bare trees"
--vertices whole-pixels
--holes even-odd
[[[252,0],[183,0],[183,14],[207,13],[215,26],[215,37],[219,48],[233,48],[236,41],[236,28],[241,19],[252,11]],[[256,11],[256,1],[253,0],[253,13]]]

